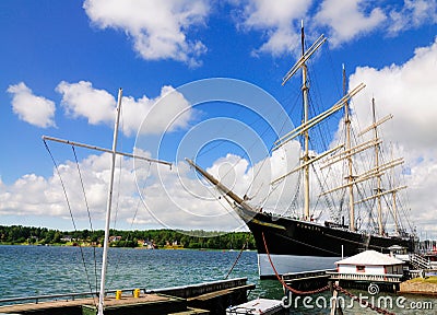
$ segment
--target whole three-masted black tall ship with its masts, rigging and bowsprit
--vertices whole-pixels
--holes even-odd
[[[283,79],[285,85],[294,75],[302,73],[299,86],[303,100],[302,124],[274,141],[271,152],[271,158],[277,154],[276,151],[286,155],[290,154],[286,151],[294,148],[294,153],[299,152],[298,164],[275,172],[277,177],[270,183],[271,190],[265,203],[257,205],[246,195],[238,196],[223,185],[221,182],[223,178],[216,179],[193,161],[187,160],[198,173],[217,188],[252,232],[259,253],[261,277],[271,276],[272,270],[263,253],[260,235],[264,235],[273,247],[273,259],[282,266],[283,272],[293,269],[296,271],[296,257],[300,257],[303,266],[308,256],[323,257],[320,261],[328,266],[333,262],[332,258],[335,256],[340,257],[343,254],[351,256],[363,249],[383,252],[390,246],[399,245],[408,250],[414,250],[414,231],[411,229],[413,233],[406,233],[399,220],[401,215],[398,215],[400,213],[398,192],[405,187],[394,186],[392,179],[394,170],[399,168],[403,160],[386,161],[382,158],[386,149],[381,137],[381,125],[391,116],[378,120],[376,102],[373,100],[369,102],[373,109],[370,119],[365,121],[365,125],[369,126],[359,133],[354,131],[362,128],[357,128],[359,126],[353,110],[353,106],[356,105],[351,102],[365,84],[359,83],[347,89],[344,67],[343,93],[340,100],[328,109],[315,110],[311,106],[314,100],[309,93],[311,71],[308,70],[307,63],[326,43],[326,38],[323,35],[320,36],[308,50],[305,50],[304,27],[302,34],[302,56]],[[319,128],[323,125],[330,125],[332,128],[335,125],[335,121],[333,122],[335,119],[332,117],[339,114],[342,118],[336,120],[336,131],[320,131]],[[319,138],[321,142],[327,138],[333,140],[328,143],[324,141],[326,143],[320,145]],[[272,164],[272,166],[277,165]],[[292,202],[284,206],[283,196],[276,194],[277,187],[288,192],[288,198],[293,195]],[[382,206],[389,197],[392,198],[390,208]],[[297,205],[299,202],[302,207]],[[270,211],[269,206],[273,206],[273,211]]]

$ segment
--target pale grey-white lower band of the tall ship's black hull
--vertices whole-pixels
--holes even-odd
[[[270,255],[279,275],[311,270],[334,269],[334,262],[341,257],[316,257],[296,255]],[[258,254],[258,271],[261,278],[274,277],[272,265],[267,254]]]

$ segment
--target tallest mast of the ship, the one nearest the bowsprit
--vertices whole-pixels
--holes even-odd
[[[305,32],[304,32],[304,21],[302,21],[300,28],[300,38],[302,38],[302,56],[305,55]],[[308,85],[307,85],[307,65],[302,65],[302,94],[304,102],[304,121],[303,125],[308,122]],[[309,220],[309,166],[307,163],[309,161],[309,132],[306,130],[304,132],[304,219]]]

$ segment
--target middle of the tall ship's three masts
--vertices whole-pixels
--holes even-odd
[[[346,70],[344,69],[343,65],[343,95],[346,95]],[[351,151],[351,117],[349,112],[349,101],[344,103],[344,126],[346,131],[346,143],[345,143],[345,151]],[[347,156],[347,184],[349,184],[349,229],[351,231],[355,231],[355,207],[354,207],[354,176],[353,176],[353,164],[352,164],[352,155]]]

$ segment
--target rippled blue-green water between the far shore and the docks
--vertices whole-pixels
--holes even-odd
[[[85,292],[90,291],[90,287],[93,291],[97,291],[101,264],[97,261],[95,265],[93,248],[82,249],[86,272],[79,247],[0,246],[0,299]],[[96,248],[95,255],[97,260],[101,260],[102,248]],[[238,252],[110,248],[107,288],[110,290],[156,289],[222,280],[237,255]],[[97,277],[95,270],[97,270]],[[247,277],[248,282],[257,284],[257,289],[250,293],[249,299],[262,296],[280,300],[283,296],[282,287],[277,281],[258,279],[255,252],[243,253],[229,276],[229,278],[237,277]],[[353,291],[353,293],[371,298],[364,291]],[[437,312],[435,299],[401,296],[405,300],[398,300],[398,304],[401,305],[399,307],[395,304],[400,296],[394,294],[387,296],[393,303],[388,311],[395,314],[436,314]],[[329,293],[311,295],[311,300],[306,304],[302,300],[295,300],[291,314],[329,314],[329,308],[321,307],[324,301],[329,305]],[[350,301],[345,298],[346,305],[350,305]],[[411,310],[412,306],[416,310]],[[428,310],[424,310],[425,307]],[[377,313],[354,304],[353,307],[346,307],[345,314]]]

